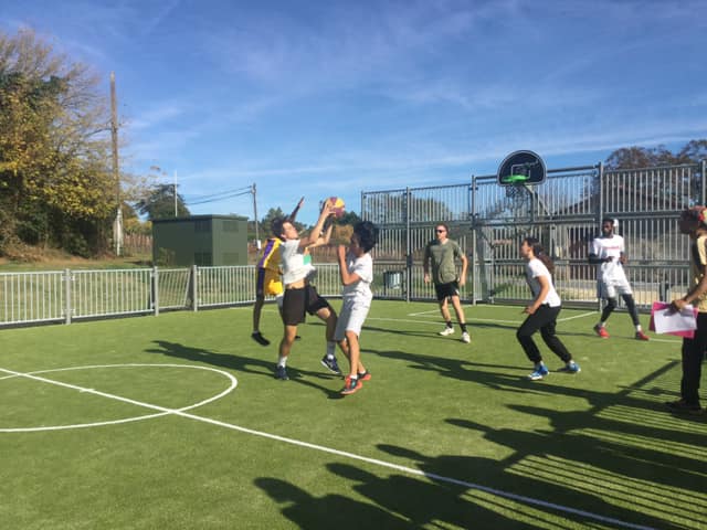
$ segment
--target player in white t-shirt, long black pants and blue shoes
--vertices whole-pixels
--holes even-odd
[[[550,373],[542,361],[540,350],[532,340],[532,336],[538,330],[540,330],[540,336],[550,351],[564,361],[564,367],[560,368],[558,372],[579,373],[581,371],[579,364],[572,360],[572,354],[567,351],[555,332],[562,301],[552,285],[552,272],[555,271],[552,259],[535,237],[523,240],[520,255],[527,262],[526,280],[534,297],[532,303],[523,311],[528,315],[528,318],[516,331],[516,338],[526,352],[526,357],[535,364],[528,379],[537,381]]]

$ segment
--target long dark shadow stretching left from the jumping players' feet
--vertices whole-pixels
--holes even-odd
[[[320,390],[327,398],[333,400],[341,399],[341,394],[338,390],[331,390],[327,386],[317,384],[313,380],[326,380],[339,379],[338,375],[329,372],[314,372],[308,370],[298,370],[287,367],[287,373],[289,374],[289,381],[277,381],[274,378],[273,370],[275,368],[274,361],[267,361],[265,359],[258,359],[253,357],[242,357],[234,353],[217,353],[200,348],[193,348],[184,346],[179,342],[170,342],[168,340],[155,340],[157,348],[146,350],[147,353],[158,353],[168,357],[176,357],[179,359],[187,359],[193,362],[201,362],[211,364],[212,367],[225,368],[234,372],[253,373],[256,375],[263,375],[273,380],[274,384],[304,384],[316,390]],[[323,369],[324,370],[324,369]]]

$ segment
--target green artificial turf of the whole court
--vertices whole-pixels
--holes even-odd
[[[434,304],[376,300],[372,380],[346,398],[316,318],[273,378],[272,305],[266,348],[250,307],[1,330],[2,527],[706,528],[707,422],[663,405],[677,338],[615,314],[599,339],[597,314],[563,310],[582,372],[538,336],[552,372],[531,382],[520,308],[466,312],[471,344],[436,336]]]

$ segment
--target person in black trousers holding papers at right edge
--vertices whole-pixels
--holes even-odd
[[[697,307],[697,329],[695,336],[683,339],[683,379],[680,399],[666,403],[673,412],[703,414],[699,404],[699,380],[701,378],[705,349],[707,349],[707,209],[694,206],[684,210],[679,219],[680,233],[689,235],[690,271],[693,286],[682,298],[672,301],[679,311],[688,304]]]

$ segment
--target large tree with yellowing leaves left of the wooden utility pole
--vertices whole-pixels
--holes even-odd
[[[0,32],[0,253],[17,244],[88,255],[116,208],[98,78],[32,31]]]

